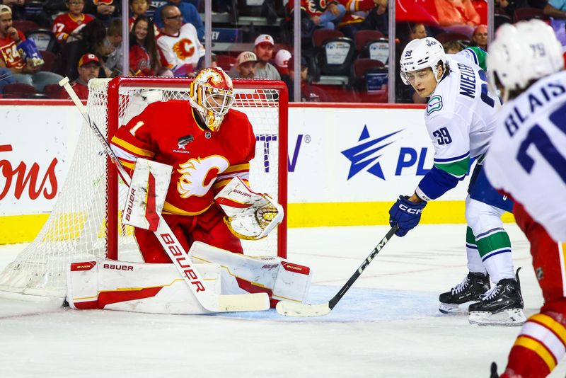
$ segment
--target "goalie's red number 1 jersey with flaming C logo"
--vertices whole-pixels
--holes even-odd
[[[215,132],[200,127],[195,117],[188,101],[152,103],[111,140],[130,174],[139,157],[173,166],[164,214],[202,214],[234,176],[248,181],[255,154],[248,117],[231,109]]]

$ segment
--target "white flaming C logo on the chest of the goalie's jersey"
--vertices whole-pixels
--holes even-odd
[[[183,164],[179,164],[177,171],[180,178],[177,183],[177,192],[183,198],[196,195],[202,197],[206,195],[219,173],[226,171],[230,166],[224,156],[212,155],[204,159],[189,159]],[[216,171],[215,176],[211,172]]]

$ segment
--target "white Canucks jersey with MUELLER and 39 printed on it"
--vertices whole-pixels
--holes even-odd
[[[487,92],[487,76],[462,52],[446,55],[450,74],[429,98],[425,122],[434,145],[434,166],[463,178],[470,158],[487,151],[499,99]]]

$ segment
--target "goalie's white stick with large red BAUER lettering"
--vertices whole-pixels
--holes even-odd
[[[59,81],[59,86],[65,88],[65,91],[69,93],[71,100],[74,102],[76,107],[79,108],[79,111],[86,120],[86,123],[88,123],[88,126],[91,127],[94,134],[96,134],[98,142],[102,144],[105,153],[110,156],[110,159],[112,159],[112,162],[114,162],[118,171],[120,171],[120,176],[122,176],[126,185],[129,186],[131,182],[129,174],[126,172],[124,167],[122,167],[120,161],[118,161],[117,156],[110,148],[110,144],[108,144],[96,123],[91,119],[91,116],[88,115],[86,107],[83,105],[79,97],[76,96],[74,89],[71,87],[71,84],[69,84],[69,78],[65,77]],[[171,231],[167,222],[163,220],[161,213],[158,215],[159,222],[154,234],[159,243],[161,243],[161,246],[163,246],[163,249],[166,251],[169,258],[171,258],[171,262],[175,265],[179,274],[183,277],[183,280],[185,280],[187,285],[190,287],[192,294],[195,294],[195,297],[204,309],[212,312],[224,312],[262,311],[270,308],[270,300],[267,293],[225,295],[216,294],[209,290],[207,285],[204,284],[202,275],[199,273],[195,265],[193,265],[189,256],[187,256],[187,252],[183,249],[183,246],[180,244],[175,234],[173,234],[173,231]]]

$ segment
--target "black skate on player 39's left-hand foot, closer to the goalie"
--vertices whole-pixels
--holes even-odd
[[[459,306],[468,302],[477,302],[480,295],[490,290],[490,276],[483,273],[468,273],[468,275],[456,287],[449,292],[440,294],[439,311],[443,314],[453,312],[466,312],[468,307]]]

